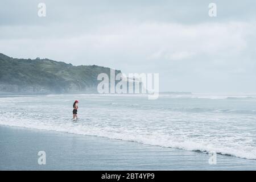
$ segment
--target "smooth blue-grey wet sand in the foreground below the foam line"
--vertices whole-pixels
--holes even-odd
[[[255,170],[256,160],[0,125],[0,170]],[[37,155],[46,151],[46,165]]]

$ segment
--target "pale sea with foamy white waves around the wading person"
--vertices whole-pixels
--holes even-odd
[[[255,96],[0,96],[0,125],[256,159]]]

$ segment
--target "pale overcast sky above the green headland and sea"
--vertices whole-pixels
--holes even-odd
[[[1,0],[0,52],[159,73],[160,91],[256,93],[255,16],[253,0]]]

